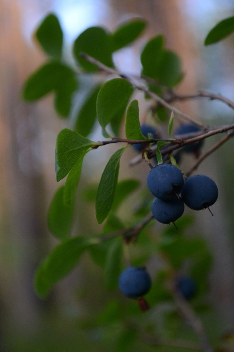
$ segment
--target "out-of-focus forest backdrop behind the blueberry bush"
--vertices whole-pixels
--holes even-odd
[[[32,34],[49,12],[54,12],[60,20],[69,62],[73,61],[74,39],[87,27],[102,25],[112,31],[122,21],[141,16],[148,21],[147,30],[132,46],[115,54],[120,70],[140,74],[142,46],[149,38],[162,33],[167,48],[182,59],[186,75],[178,92],[186,94],[204,89],[234,100],[233,35],[216,45],[203,46],[208,31],[219,20],[234,15],[233,1],[0,1],[0,351],[111,351],[108,344],[95,342],[96,330],[86,334],[85,324],[80,325],[84,317],[102,311],[103,296],[113,299],[121,296],[100,288],[101,270],[90,263],[88,255],[69,277],[56,285],[47,300],[39,300],[33,289],[36,266],[57,243],[47,228],[47,210],[58,187],[54,171],[56,136],[62,128],[69,128],[69,123],[56,115],[51,95],[37,103],[21,100],[22,84],[45,61]],[[91,83],[90,77],[82,79],[84,88],[76,97],[77,106]],[[146,103],[142,97],[138,98],[142,119]],[[233,121],[233,111],[222,102],[194,99],[176,105],[210,125]],[[166,137],[167,125],[161,124],[160,128]],[[102,140],[98,126],[90,138]],[[206,140],[203,150],[219,138]],[[234,331],[233,146],[234,141],[229,140],[200,165],[197,173],[213,178],[219,188],[219,200],[212,207],[213,218],[205,211],[193,212],[194,223],[187,230],[188,235],[198,233],[204,237],[214,257],[209,302],[216,312],[220,334]],[[87,184],[100,180],[108,157],[116,148],[114,145],[99,148],[85,159],[74,234],[101,232],[94,203],[87,202],[83,193]],[[130,148],[126,151],[119,179],[138,178],[143,189],[147,165],[141,163],[128,168],[129,159],[135,155]],[[186,172],[193,162],[192,157],[185,157],[182,169]],[[127,221],[133,208],[134,196],[121,210],[122,218]],[[189,214],[188,209],[186,213]],[[161,228],[157,224],[153,231]],[[158,258],[152,258],[147,266],[153,274],[160,266]],[[146,347],[138,348],[135,351],[148,351]]]

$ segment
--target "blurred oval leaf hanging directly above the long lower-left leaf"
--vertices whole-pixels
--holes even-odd
[[[63,195],[64,186],[55,192],[48,212],[49,231],[60,240],[69,237],[74,218],[74,203],[69,207],[65,206]]]

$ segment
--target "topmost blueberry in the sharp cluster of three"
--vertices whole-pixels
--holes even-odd
[[[182,172],[171,164],[157,165],[147,176],[147,186],[155,197],[169,201],[183,188]]]

